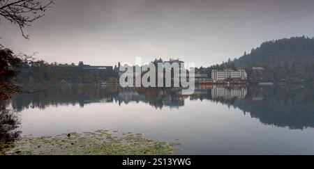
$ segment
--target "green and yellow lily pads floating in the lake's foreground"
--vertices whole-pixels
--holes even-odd
[[[147,138],[147,134],[98,130],[57,136],[21,136],[12,143],[0,143],[5,155],[172,155],[175,143]],[[6,144],[6,145],[4,145]]]

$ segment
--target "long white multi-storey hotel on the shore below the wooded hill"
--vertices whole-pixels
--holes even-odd
[[[224,81],[225,79],[239,79],[246,80],[248,79],[248,74],[246,74],[245,70],[231,70],[225,69],[223,71],[213,70],[211,72],[211,78],[214,81]]]

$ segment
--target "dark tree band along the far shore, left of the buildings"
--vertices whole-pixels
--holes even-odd
[[[20,69],[18,83],[96,83],[117,77],[113,70],[89,70],[83,68],[84,63],[58,64],[38,61]]]

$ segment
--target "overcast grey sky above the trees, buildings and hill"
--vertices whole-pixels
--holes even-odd
[[[1,43],[58,63],[114,65],[179,57],[197,66],[236,58],[265,40],[314,37],[313,0],[56,0],[26,29],[1,18]]]

